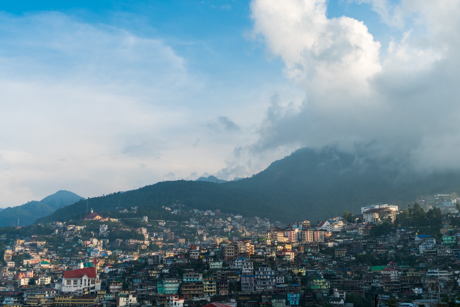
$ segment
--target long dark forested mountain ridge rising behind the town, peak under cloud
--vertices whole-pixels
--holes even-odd
[[[181,203],[187,209],[220,209],[283,222],[316,221],[344,210],[360,213],[360,207],[370,203],[406,205],[437,191],[460,191],[460,172],[417,174],[364,153],[303,148],[251,178],[222,184],[165,181],[94,197],[89,204],[95,212],[138,206],[139,214],[150,214],[151,219],[176,218],[161,206]],[[79,218],[85,212],[86,201],[80,201],[37,222]]]

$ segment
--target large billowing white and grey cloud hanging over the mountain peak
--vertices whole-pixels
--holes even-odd
[[[458,1],[369,0],[400,32],[382,47],[362,21],[327,17],[326,0],[253,0],[253,36],[305,91],[274,96],[253,149],[367,146],[419,170],[460,168]]]

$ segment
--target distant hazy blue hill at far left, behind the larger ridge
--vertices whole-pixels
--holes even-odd
[[[57,209],[75,203],[82,198],[70,191],[61,190],[40,201],[31,201],[20,206],[2,209],[0,211],[0,227],[17,226],[18,218],[19,226],[33,224],[37,218],[52,214]]]

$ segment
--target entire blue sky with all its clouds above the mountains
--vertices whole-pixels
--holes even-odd
[[[0,208],[300,147],[460,168],[459,1],[3,1]]]

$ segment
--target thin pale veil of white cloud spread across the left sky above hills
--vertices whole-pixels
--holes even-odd
[[[56,12],[1,13],[0,24],[0,207],[218,170],[246,137],[209,132],[218,115],[239,129],[232,96],[203,103],[222,94],[161,38]]]

